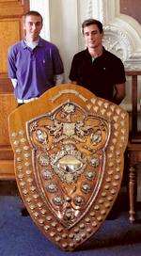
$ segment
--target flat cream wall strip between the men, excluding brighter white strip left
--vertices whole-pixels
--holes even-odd
[[[71,58],[78,51],[78,6],[76,0],[50,1],[50,34],[62,56],[65,77],[71,68]]]

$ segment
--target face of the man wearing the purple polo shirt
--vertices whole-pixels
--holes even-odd
[[[39,16],[30,15],[25,17],[24,30],[26,38],[32,38],[33,40],[37,40],[39,38],[41,28],[42,22]]]

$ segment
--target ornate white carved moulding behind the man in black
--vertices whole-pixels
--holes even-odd
[[[126,70],[141,70],[141,24],[120,13],[119,0],[85,2],[86,19],[93,17],[103,24],[105,48],[122,59]]]

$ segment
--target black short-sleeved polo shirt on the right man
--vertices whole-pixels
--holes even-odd
[[[73,56],[69,78],[109,101],[113,99],[115,85],[126,81],[122,61],[104,48],[102,56],[94,61],[87,49]]]

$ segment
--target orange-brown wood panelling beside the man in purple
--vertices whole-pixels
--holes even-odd
[[[0,179],[14,178],[8,115],[16,107],[16,101],[8,79],[8,47],[23,37],[22,16],[28,10],[27,0],[0,0]]]

